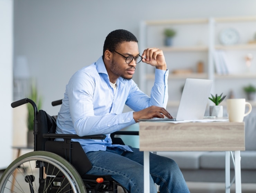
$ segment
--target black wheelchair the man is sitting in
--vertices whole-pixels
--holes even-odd
[[[25,98],[11,103],[12,108],[30,103],[34,109],[34,151],[21,155],[4,171],[0,193],[117,193],[120,186],[111,176],[86,174],[92,167],[79,142],[71,139],[104,139],[106,135],[78,136],[55,134],[57,116],[37,110],[35,102]],[[62,100],[52,105],[62,104]],[[124,144],[115,135],[138,135],[138,131],[117,131],[113,143]],[[63,141],[54,141],[54,139]],[[18,174],[18,175],[17,175]]]

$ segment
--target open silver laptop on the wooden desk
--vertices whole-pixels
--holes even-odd
[[[184,121],[200,120],[204,118],[208,97],[211,92],[212,80],[191,79],[185,80],[176,118],[140,119],[139,121]]]

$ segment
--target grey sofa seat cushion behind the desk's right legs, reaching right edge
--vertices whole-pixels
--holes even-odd
[[[235,156],[235,153],[233,152]],[[241,170],[256,169],[256,151],[241,151]],[[200,157],[202,169],[225,169],[225,152],[205,152]],[[230,168],[234,168],[230,157]]]

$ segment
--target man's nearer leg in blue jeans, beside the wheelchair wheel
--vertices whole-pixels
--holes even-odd
[[[125,156],[108,151],[86,153],[92,163],[92,169],[86,174],[111,175],[130,192],[143,192],[143,165]],[[150,180],[150,192],[155,192],[153,179]]]

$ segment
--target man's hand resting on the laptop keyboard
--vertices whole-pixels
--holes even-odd
[[[149,106],[146,109],[133,113],[133,118],[137,123],[139,119],[165,118],[172,119],[172,115],[165,108],[159,106]]]

